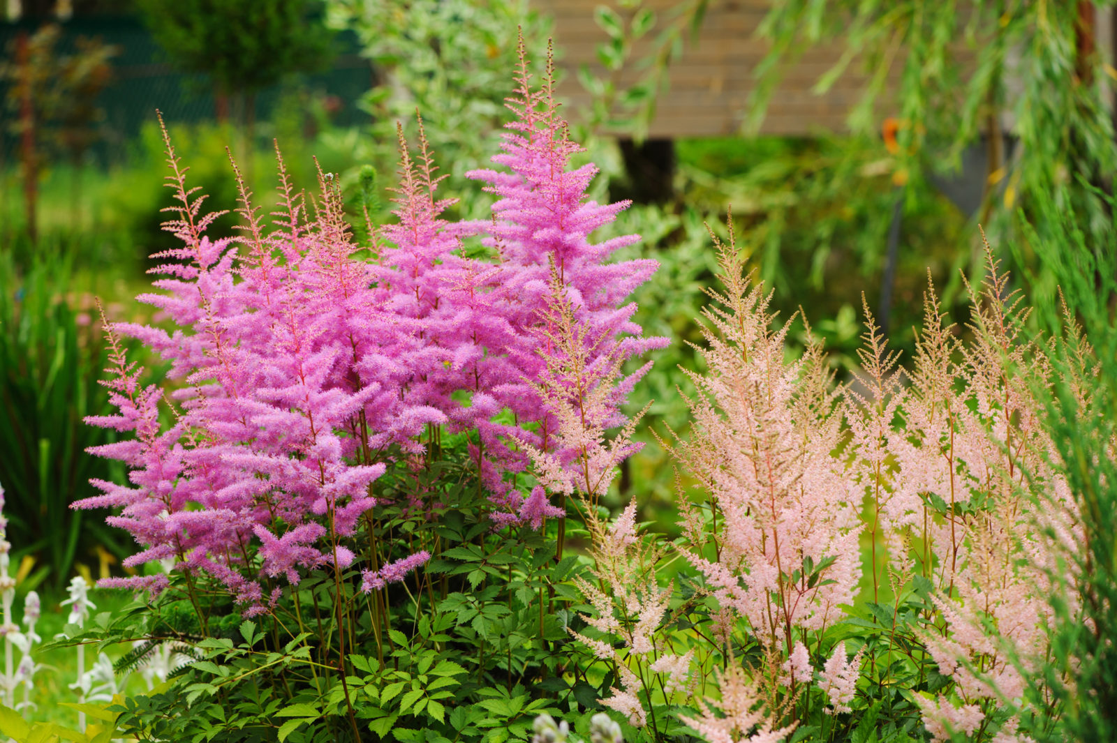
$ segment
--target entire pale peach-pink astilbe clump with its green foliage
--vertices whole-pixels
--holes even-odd
[[[671,445],[699,493],[680,488],[682,535],[655,546],[634,503],[591,520],[577,636],[620,682],[602,704],[651,737],[682,723],[727,743],[1009,743],[1050,724],[1025,676],[1081,529],[1037,398],[1048,345],[986,254],[964,336],[928,286],[908,370],[866,308],[862,374],[836,387],[818,345],[789,355],[731,229],[693,431]]]

